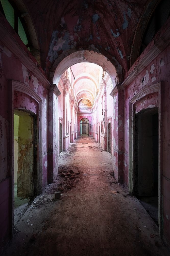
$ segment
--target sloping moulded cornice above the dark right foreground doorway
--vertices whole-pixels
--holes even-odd
[[[162,53],[165,48],[170,44],[170,26],[166,26],[165,32],[159,37],[152,48],[146,52],[142,60],[134,66],[131,70],[129,76],[124,80],[122,86],[125,88],[131,84],[134,79],[144,70],[146,67],[156,58],[160,53]],[[148,47],[147,47],[148,48]],[[140,58],[140,57],[139,57]]]

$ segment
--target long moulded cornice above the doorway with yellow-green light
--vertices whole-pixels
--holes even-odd
[[[47,89],[50,82],[36,67],[36,64],[28,57],[27,53],[22,49],[13,35],[6,29],[4,24],[0,22],[1,41],[22,63],[27,69],[43,84]],[[38,64],[38,63],[37,63]]]

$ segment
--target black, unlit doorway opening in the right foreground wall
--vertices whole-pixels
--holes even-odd
[[[135,116],[134,193],[158,225],[158,109]]]

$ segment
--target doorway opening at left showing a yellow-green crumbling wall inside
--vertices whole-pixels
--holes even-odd
[[[14,110],[14,208],[37,195],[36,115]]]

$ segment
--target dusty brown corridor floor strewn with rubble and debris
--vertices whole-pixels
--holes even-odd
[[[21,215],[4,255],[169,256],[147,211],[116,183],[112,161],[90,137],[71,143],[56,182]],[[72,180],[61,176],[74,169],[80,174]],[[55,200],[58,187],[64,190]]]

